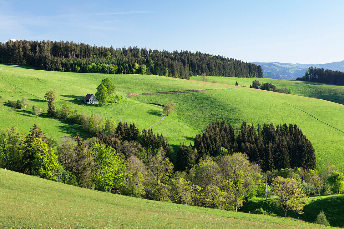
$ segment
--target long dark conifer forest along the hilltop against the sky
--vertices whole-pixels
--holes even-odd
[[[138,47],[115,49],[68,41],[10,40],[0,45],[0,63],[24,63],[63,72],[136,73],[183,79],[203,73],[232,77],[263,75],[259,65],[219,55]]]

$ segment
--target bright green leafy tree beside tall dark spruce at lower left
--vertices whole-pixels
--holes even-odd
[[[29,144],[33,144],[33,174],[45,179],[57,181],[59,165],[54,150],[49,148],[40,138],[34,139]]]

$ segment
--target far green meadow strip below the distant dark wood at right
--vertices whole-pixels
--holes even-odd
[[[278,88],[289,87],[294,95],[310,98],[324,99],[331,102],[344,104],[344,86],[334,84],[322,84],[299,80],[269,79],[269,78],[237,78],[207,76],[209,81],[216,80],[219,84],[235,85],[238,81],[240,86],[250,87],[252,80],[257,79],[261,83],[271,83]],[[201,80],[200,76],[191,77],[191,80]]]

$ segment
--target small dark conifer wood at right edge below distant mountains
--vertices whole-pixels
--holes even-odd
[[[304,76],[298,77],[296,80],[344,85],[344,72],[330,69],[324,70],[324,68],[314,68],[311,66],[307,69]]]

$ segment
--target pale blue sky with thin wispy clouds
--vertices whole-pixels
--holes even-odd
[[[200,51],[247,62],[344,59],[343,1],[3,1],[0,41]]]

